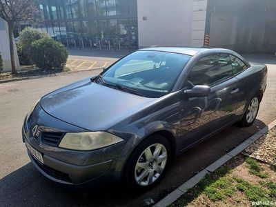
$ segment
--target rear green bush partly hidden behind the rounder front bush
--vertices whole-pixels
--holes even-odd
[[[23,53],[27,57],[29,57],[29,59],[31,59],[30,47],[32,43],[34,41],[47,37],[50,38],[50,36],[46,32],[35,30],[34,28],[30,27],[24,28],[19,34],[19,39]]]

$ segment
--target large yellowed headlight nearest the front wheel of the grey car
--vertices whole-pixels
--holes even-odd
[[[66,133],[59,144],[70,150],[95,150],[124,141],[108,132]]]

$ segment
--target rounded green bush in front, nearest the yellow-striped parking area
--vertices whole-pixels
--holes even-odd
[[[68,58],[65,46],[51,38],[34,41],[30,54],[34,64],[46,70],[63,69]]]

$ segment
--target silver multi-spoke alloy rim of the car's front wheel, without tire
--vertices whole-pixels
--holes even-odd
[[[164,171],[167,163],[167,150],[162,144],[148,146],[135,165],[135,181],[140,186],[154,183]]]

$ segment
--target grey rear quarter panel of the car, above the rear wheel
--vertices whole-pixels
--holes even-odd
[[[239,79],[239,92],[242,99],[237,107],[237,115],[243,115],[254,95],[264,94],[266,89],[267,67],[262,63],[250,63],[250,67],[236,76]],[[262,98],[262,97],[261,97]]]

